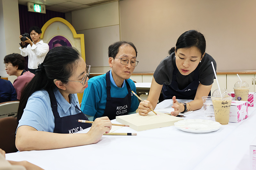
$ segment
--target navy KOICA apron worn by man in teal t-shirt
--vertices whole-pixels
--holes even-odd
[[[128,94],[124,98],[111,97],[110,71],[106,73],[107,102],[106,102],[105,112],[102,116],[108,116],[110,120],[113,120],[113,119],[116,119],[116,116],[128,115],[129,110],[131,108],[131,104],[132,104],[132,96],[130,92],[131,87],[127,82],[127,80],[125,80],[125,82],[126,82]]]

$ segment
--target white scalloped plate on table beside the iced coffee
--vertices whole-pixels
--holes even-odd
[[[221,124],[211,120],[187,119],[174,123],[177,129],[190,133],[209,133],[220,129]]]

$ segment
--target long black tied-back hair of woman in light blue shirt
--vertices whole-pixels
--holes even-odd
[[[23,89],[20,96],[17,121],[19,122],[28,98],[38,90],[53,90],[53,80],[68,84],[68,78],[75,72],[81,55],[76,48],[61,46],[52,48],[45,56],[44,62],[38,65],[36,75]]]

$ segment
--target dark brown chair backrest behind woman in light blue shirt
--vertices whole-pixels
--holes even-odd
[[[6,153],[17,152],[15,146],[15,132],[18,127],[16,117],[5,117],[0,119],[0,148]]]

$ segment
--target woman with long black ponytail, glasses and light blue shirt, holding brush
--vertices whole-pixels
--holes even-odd
[[[56,47],[38,65],[24,88],[18,109],[16,147],[19,151],[58,149],[93,144],[112,127],[108,117],[88,120],[76,93],[88,87],[90,67],[75,48]],[[74,134],[91,127],[88,133]]]

